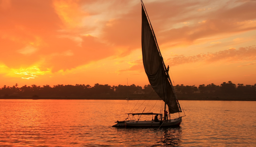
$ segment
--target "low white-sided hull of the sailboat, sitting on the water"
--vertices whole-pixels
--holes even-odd
[[[179,126],[182,122],[182,117],[176,118],[170,122],[155,122],[155,121],[121,121],[112,127],[172,127]]]

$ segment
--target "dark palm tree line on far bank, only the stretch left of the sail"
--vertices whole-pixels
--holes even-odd
[[[150,86],[150,85],[149,85]],[[151,87],[151,86],[150,86]],[[144,86],[144,89],[147,89],[147,85]],[[149,88],[148,88],[149,89]],[[76,85],[55,85],[53,87],[49,85],[36,86],[24,85],[18,87],[18,84],[15,86],[9,87],[4,85],[0,89],[0,95],[8,96],[93,96],[93,95],[131,95],[136,93],[141,93],[142,87],[132,84],[130,86],[118,85],[110,86],[108,84],[101,85],[99,83],[94,84],[94,86],[85,85],[85,84],[76,84]],[[146,90],[147,91],[147,90]]]

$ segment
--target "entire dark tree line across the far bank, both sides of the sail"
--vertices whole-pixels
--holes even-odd
[[[256,83],[254,85],[244,85],[244,84],[234,84],[232,81],[223,82],[220,85],[215,85],[214,83],[199,85],[197,88],[193,86],[176,85],[174,89],[177,93],[240,93],[240,94],[256,94]],[[145,85],[143,88],[141,86],[136,86],[132,84],[110,86],[108,84],[101,85],[99,83],[94,84],[94,86],[85,84],[76,85],[55,85],[53,87],[49,85],[36,86],[24,85],[18,87],[15,84],[12,87],[4,85],[0,89],[1,97],[22,97],[22,96],[51,96],[51,97],[90,97],[90,96],[132,96],[138,94],[148,94],[152,93],[152,96],[157,96],[153,91],[151,85]]]

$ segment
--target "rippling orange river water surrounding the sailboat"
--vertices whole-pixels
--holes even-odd
[[[255,101],[180,102],[180,127],[158,129],[111,126],[162,101],[0,100],[0,146],[256,146]]]

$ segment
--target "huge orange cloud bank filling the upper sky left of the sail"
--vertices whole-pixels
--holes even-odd
[[[65,71],[127,56],[140,47],[141,8],[132,11],[131,1],[28,0],[0,5],[0,21],[5,22],[0,23],[0,62],[11,69],[37,64],[52,72]]]

